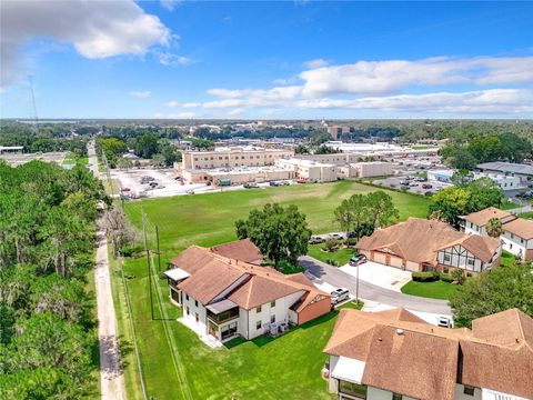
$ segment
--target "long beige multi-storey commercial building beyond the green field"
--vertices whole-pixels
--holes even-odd
[[[213,168],[273,166],[280,158],[294,156],[293,150],[263,149],[255,147],[217,148],[213,151],[183,151],[179,168],[205,170]]]

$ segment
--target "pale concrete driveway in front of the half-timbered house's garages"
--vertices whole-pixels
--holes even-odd
[[[400,288],[411,280],[411,272],[403,271],[394,267],[386,267],[373,261],[366,261],[359,267],[350,267],[349,264],[340,267],[340,270],[351,274],[358,276],[359,279],[369,283],[379,286],[384,289],[400,292]]]

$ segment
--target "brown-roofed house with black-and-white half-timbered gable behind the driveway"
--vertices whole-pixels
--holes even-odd
[[[371,261],[410,271],[481,272],[500,263],[500,239],[459,232],[447,223],[410,218],[379,229],[355,246]]]

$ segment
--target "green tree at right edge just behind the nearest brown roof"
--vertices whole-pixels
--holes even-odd
[[[531,263],[499,267],[467,279],[450,298],[457,327],[471,327],[476,318],[517,308],[533,317]]]

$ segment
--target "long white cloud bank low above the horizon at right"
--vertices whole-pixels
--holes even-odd
[[[532,112],[533,90],[527,89],[533,82],[531,66],[533,57],[358,61],[304,70],[299,76],[300,84],[270,89],[211,89],[208,92],[217,99],[202,103],[202,107]],[[439,87],[457,84],[466,89],[439,90]],[[416,88],[415,94],[413,88]]]

